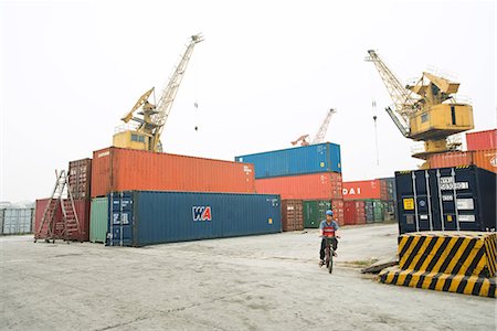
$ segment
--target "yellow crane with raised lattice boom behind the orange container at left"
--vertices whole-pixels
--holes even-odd
[[[137,100],[130,111],[123,116],[121,120],[125,124],[134,121],[134,126],[131,128],[126,125],[119,127],[113,137],[113,146],[155,152],[162,151],[160,136],[171,111],[172,103],[184,76],[193,49],[202,41],[203,36],[201,34],[191,36],[190,43],[176,66],[172,76],[169,78],[166,88],[162,90],[157,105],[148,102],[155,90],[152,87]],[[141,110],[137,111],[140,108]]]

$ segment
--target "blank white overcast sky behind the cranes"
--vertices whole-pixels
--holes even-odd
[[[55,169],[110,146],[198,32],[167,152],[234,160],[289,148],[334,107],[327,140],[341,145],[343,180],[415,169],[369,49],[403,83],[431,65],[454,74],[475,130],[496,127],[495,1],[0,1],[0,201],[49,196]]]

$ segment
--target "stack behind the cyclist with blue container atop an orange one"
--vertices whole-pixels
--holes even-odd
[[[339,145],[325,142],[239,156],[235,160],[254,164],[257,193],[279,194],[282,203],[302,201],[303,224],[286,231],[318,227],[328,209],[332,209],[338,223],[343,224]],[[288,217],[287,210],[282,212],[282,218]]]

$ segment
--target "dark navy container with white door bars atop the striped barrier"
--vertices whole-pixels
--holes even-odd
[[[401,234],[495,231],[496,174],[475,166],[395,172]]]

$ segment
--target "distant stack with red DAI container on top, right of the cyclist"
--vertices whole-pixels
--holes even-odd
[[[395,179],[343,182],[345,224],[394,221]]]

